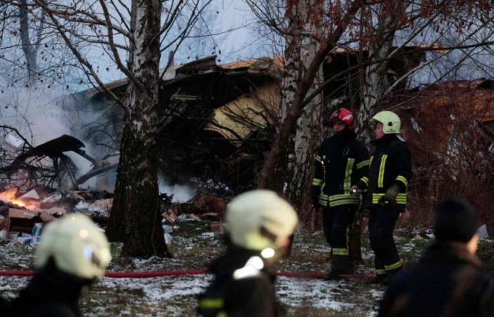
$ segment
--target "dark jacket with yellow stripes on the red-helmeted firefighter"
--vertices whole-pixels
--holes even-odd
[[[325,139],[315,156],[312,197],[319,197],[321,206],[360,204],[350,189],[367,175],[368,163],[368,151],[355,132],[345,129]]]

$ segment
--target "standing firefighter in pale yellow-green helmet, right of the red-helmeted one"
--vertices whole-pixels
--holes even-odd
[[[370,156],[368,178],[353,189],[367,189],[368,232],[374,251],[376,277],[373,282],[387,284],[402,268],[396,244],[394,224],[406,206],[406,192],[411,178],[411,153],[399,135],[401,122],[392,111],[380,111],[375,121],[375,147]]]

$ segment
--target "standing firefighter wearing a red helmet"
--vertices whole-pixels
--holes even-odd
[[[366,147],[356,139],[354,116],[347,108],[332,113],[330,125],[334,133],[315,157],[311,192],[316,209],[323,207],[323,231],[332,251],[331,271],[325,280],[337,280],[344,273],[353,273],[347,231],[360,199],[350,190],[367,175],[369,160]]]

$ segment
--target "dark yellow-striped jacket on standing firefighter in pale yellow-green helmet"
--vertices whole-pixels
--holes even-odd
[[[376,206],[387,189],[396,184],[400,191],[396,197],[398,205],[406,205],[406,192],[411,178],[411,152],[397,135],[385,135],[375,139],[370,156],[367,177],[361,178],[357,186],[367,189],[368,206]],[[388,202],[386,201],[386,204]]]

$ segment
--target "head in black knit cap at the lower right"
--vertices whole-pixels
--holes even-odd
[[[435,207],[434,235],[440,242],[461,242],[474,254],[478,212],[463,198],[448,197]]]

